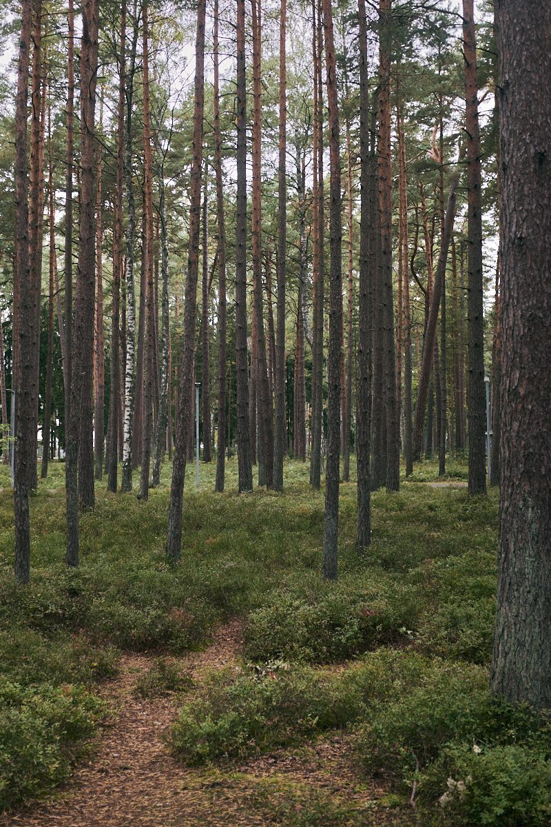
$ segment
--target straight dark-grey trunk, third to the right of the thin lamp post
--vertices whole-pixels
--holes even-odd
[[[235,215],[235,366],[237,369],[237,459],[239,490],[253,489],[249,444],[247,358],[247,122],[245,87],[245,0],[237,0],[237,203]]]

